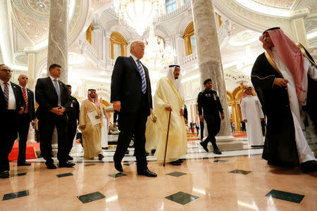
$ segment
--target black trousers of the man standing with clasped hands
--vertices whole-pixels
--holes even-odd
[[[58,136],[58,152],[57,159],[59,162],[66,162],[68,155],[68,124],[66,115],[55,115],[51,112],[44,113],[43,117],[39,118],[39,146],[43,158],[46,163],[52,163],[54,160],[51,158],[51,139],[54,132],[54,127],[57,129]]]

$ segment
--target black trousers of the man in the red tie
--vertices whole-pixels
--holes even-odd
[[[19,156],[18,162],[25,162],[25,150],[27,143],[27,135],[30,128],[30,114],[23,113],[18,115],[18,134],[19,134]]]

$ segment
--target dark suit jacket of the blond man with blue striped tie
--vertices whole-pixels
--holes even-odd
[[[149,71],[142,64],[147,81],[147,100],[152,108],[151,82]],[[142,96],[142,79],[135,60],[130,57],[119,56],[114,65],[111,76],[111,102],[120,101],[120,112],[135,112],[139,108]],[[150,113],[148,112],[148,115]]]

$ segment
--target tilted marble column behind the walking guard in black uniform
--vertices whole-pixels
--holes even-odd
[[[225,79],[221,63],[218,33],[216,30],[215,12],[212,0],[191,0],[194,32],[199,59],[201,88],[207,78],[213,80],[213,90],[218,92],[225,120],[221,121],[218,136],[230,136],[230,117],[225,90]]]

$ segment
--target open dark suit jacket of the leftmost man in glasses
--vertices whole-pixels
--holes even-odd
[[[13,89],[13,93],[15,96],[15,105],[16,105],[16,110],[20,110],[20,107],[25,108],[25,101],[22,95],[21,88],[12,82],[11,87]],[[0,87],[0,115],[4,114],[6,112],[6,98],[4,98],[4,91],[2,91]]]

